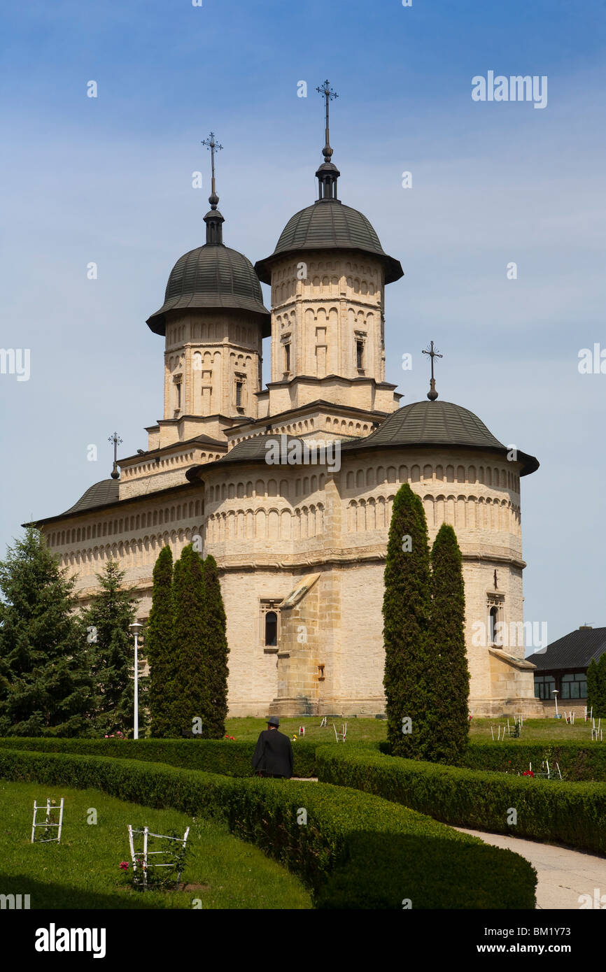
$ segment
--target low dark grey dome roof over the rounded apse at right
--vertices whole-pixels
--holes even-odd
[[[393,412],[372,434],[348,442],[342,449],[389,448],[407,445],[466,446],[507,455],[509,449],[467,408],[451,401],[413,401]],[[539,468],[534,456],[517,450],[520,475]]]

